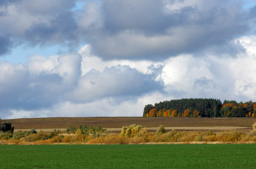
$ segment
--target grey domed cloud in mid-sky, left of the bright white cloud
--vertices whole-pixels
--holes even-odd
[[[130,66],[117,65],[105,68],[101,73],[90,70],[78,82],[72,100],[93,101],[103,97],[136,98],[152,91],[160,91],[161,84],[153,80],[151,74],[139,73]]]

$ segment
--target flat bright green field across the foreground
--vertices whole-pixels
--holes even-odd
[[[255,144],[0,145],[0,168],[255,168]]]

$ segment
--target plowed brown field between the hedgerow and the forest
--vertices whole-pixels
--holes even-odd
[[[6,122],[2,120],[2,122]],[[56,118],[21,118],[8,119],[15,130],[26,128],[54,129],[66,128],[67,125],[79,127],[101,126],[103,128],[116,128],[139,124],[149,130],[155,130],[164,125],[166,130],[238,130],[249,131],[256,118],[192,118],[192,117],[56,117]],[[152,128],[151,128],[152,127]]]

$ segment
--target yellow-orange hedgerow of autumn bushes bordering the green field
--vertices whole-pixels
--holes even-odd
[[[256,126],[255,123],[253,126]],[[256,142],[255,127],[253,131],[246,133],[241,131],[177,131],[172,130],[164,132],[165,128],[160,126],[156,132],[149,132],[142,126],[132,124],[122,127],[122,131],[118,133],[108,132],[83,132],[77,128],[72,134],[64,134],[64,132],[54,130],[52,134],[43,131],[33,133],[29,131],[0,132],[0,144],[143,144],[143,143],[175,143],[192,141],[209,142],[221,141],[223,143],[244,143],[247,141]]]

